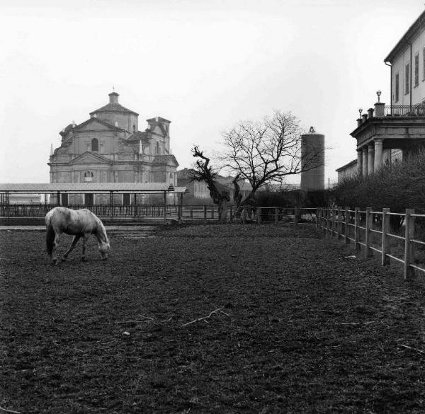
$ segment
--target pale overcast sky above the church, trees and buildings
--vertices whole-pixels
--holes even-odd
[[[180,167],[238,120],[290,110],[325,135],[326,178],[356,158],[358,108],[424,0],[10,1],[0,6],[0,182],[48,182],[59,132],[108,103],[171,120]]]

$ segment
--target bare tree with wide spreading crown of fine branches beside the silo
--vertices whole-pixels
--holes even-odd
[[[319,149],[310,148],[301,156],[301,134],[297,117],[279,111],[262,122],[239,122],[223,132],[224,150],[218,154],[222,166],[252,188],[241,205],[249,204],[263,185],[323,164]]]

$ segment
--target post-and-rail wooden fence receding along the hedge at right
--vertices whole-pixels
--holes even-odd
[[[391,217],[397,218],[399,223],[403,224],[404,236],[391,233]],[[322,229],[327,237],[344,238],[346,244],[353,242],[356,250],[361,250],[363,246],[365,258],[372,256],[373,252],[380,253],[382,266],[389,264],[390,260],[402,263],[404,279],[407,279],[414,275],[415,270],[425,272],[425,268],[415,264],[416,248],[425,246],[425,241],[415,238],[415,232],[419,229],[419,226],[416,226],[418,219],[425,222],[425,214],[415,214],[414,209],[406,209],[404,213],[392,213],[387,208],[382,209],[382,212],[374,212],[370,207],[363,211],[360,208],[351,210],[348,207],[318,208],[316,226],[317,229]],[[375,235],[379,235],[379,248],[373,243]],[[401,253],[402,258],[390,253],[392,241],[398,243],[397,253]]]

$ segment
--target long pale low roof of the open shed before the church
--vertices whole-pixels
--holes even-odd
[[[184,188],[184,190],[181,190]],[[179,187],[184,192],[186,187]],[[0,192],[178,192],[170,183],[5,183]]]

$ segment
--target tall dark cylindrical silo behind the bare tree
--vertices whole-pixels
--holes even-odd
[[[301,190],[324,190],[324,135],[311,127],[301,135]]]

